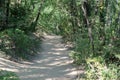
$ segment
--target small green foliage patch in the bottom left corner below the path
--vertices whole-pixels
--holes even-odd
[[[0,80],[20,80],[13,72],[0,70]]]

